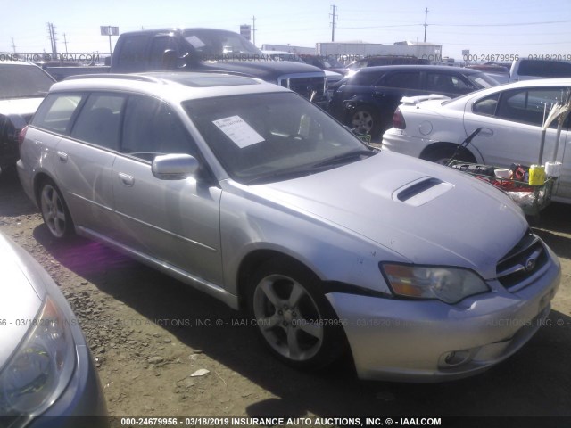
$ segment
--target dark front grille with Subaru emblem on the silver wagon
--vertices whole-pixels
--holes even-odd
[[[528,231],[498,263],[496,267],[498,281],[507,289],[513,289],[534,276],[547,260],[547,252],[542,241],[537,235]]]

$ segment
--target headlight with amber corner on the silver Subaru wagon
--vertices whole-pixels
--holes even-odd
[[[468,269],[398,263],[381,263],[380,267],[394,294],[402,297],[438,299],[452,304],[490,291],[484,280]]]

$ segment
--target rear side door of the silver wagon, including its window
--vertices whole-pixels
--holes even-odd
[[[63,137],[57,144],[55,173],[75,225],[111,234],[111,171],[125,97],[102,93],[82,98],[62,96],[62,103],[76,104],[80,111],[70,137]]]

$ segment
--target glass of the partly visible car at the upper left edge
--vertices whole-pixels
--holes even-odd
[[[0,64],[0,99],[46,96],[54,80],[36,66]]]

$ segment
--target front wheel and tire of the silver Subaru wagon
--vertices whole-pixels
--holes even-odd
[[[346,349],[343,327],[319,278],[289,259],[270,259],[252,276],[250,315],[261,341],[288,366],[323,368]]]

